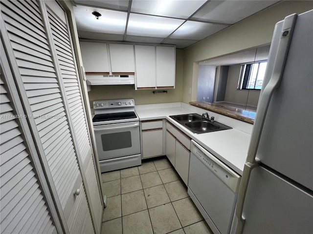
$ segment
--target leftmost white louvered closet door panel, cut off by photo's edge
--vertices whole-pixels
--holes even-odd
[[[1,51],[3,52],[3,51]],[[1,60],[3,54],[1,54]],[[2,64],[2,63],[1,63]],[[0,79],[1,233],[56,233],[38,175],[28,155],[21,123]]]

